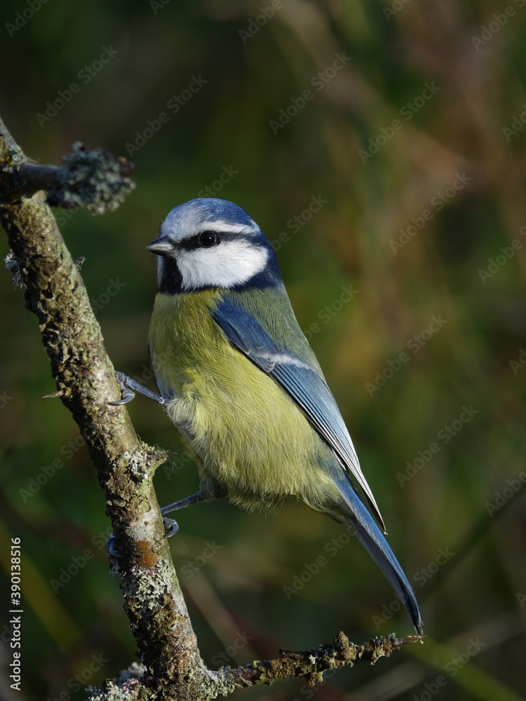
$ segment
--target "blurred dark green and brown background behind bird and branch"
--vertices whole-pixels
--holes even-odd
[[[163,217],[198,194],[244,207],[276,242],[422,606],[422,646],[316,690],[300,679],[237,697],[521,697],[526,2],[4,0],[1,18],[0,111],[26,153],[59,163],[80,139],[137,166],[114,214],[56,210],[73,257],[86,257],[114,365],[148,377],[156,275],[144,246]],[[0,294],[0,696],[80,701],[135,645],[95,470],[71,416],[41,398],[55,386],[6,272]],[[142,439],[177,451],[156,476],[159,501],[195,491],[168,418],[140,397],[129,411]],[[212,667],[340,629],[356,642],[412,632],[377,566],[327,517],[224,502],[178,520],[170,547]],[[13,537],[22,694],[7,666]]]

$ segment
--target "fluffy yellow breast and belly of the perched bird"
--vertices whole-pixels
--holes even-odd
[[[149,331],[159,390],[177,395],[168,414],[201,458],[203,491],[219,483],[248,507],[298,497],[331,510],[339,493],[323,465],[335,456],[288,394],[231,346],[210,316],[219,297],[157,294]]]

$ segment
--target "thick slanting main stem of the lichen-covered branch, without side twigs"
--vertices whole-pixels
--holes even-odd
[[[0,223],[18,264],[18,281],[25,285],[26,306],[38,318],[58,395],[79,424],[104,490],[120,555],[113,566],[147,669],[144,683],[156,690],[167,670],[176,683],[201,681],[205,668],[152,485],[154,470],[166,456],[140,442],[125,408],[107,404],[120,396],[114,368],[46,196],[41,191],[14,196],[25,163],[0,122]],[[106,175],[93,175],[101,189]]]

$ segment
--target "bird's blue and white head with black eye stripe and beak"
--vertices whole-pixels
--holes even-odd
[[[245,210],[199,198],[174,207],[147,249],[159,256],[159,292],[282,285],[274,250]]]

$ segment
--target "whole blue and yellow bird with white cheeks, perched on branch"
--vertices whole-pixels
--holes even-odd
[[[119,374],[113,403],[134,390],[158,401],[196,459],[199,491],[161,513],[225,496],[249,510],[303,502],[351,526],[421,635],[417,599],[267,236],[238,205],[196,198],[169,212],[147,250],[157,257],[148,351],[159,395]]]

